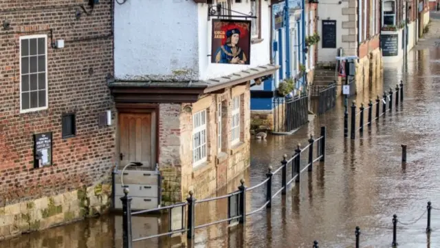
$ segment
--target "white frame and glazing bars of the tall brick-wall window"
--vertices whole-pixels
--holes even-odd
[[[23,41],[23,40],[25,40],[25,39],[28,39],[28,40],[30,40],[30,39],[40,39],[40,38],[44,38],[45,39],[45,52],[44,52],[44,55],[45,55],[45,97],[46,97],[46,104],[45,104],[45,106],[44,107],[33,107],[33,108],[28,108],[28,109],[26,109],[26,110],[23,110],[23,99],[22,99],[22,93],[23,93],[23,91],[22,91],[22,88],[21,88],[21,85],[22,85],[22,76],[23,76],[23,74],[22,74],[22,72],[21,72],[21,63],[22,63],[22,56],[21,56],[21,41]],[[40,110],[47,110],[47,108],[49,107],[49,99],[48,99],[48,97],[49,97],[49,89],[48,89],[48,83],[47,83],[47,34],[34,34],[34,35],[26,35],[26,36],[22,36],[22,37],[20,37],[20,39],[19,39],[19,66],[20,66],[20,113],[28,113],[28,112],[36,112],[36,111],[40,111]],[[37,41],[37,55],[36,56],[38,56],[38,55],[41,55],[41,54],[38,54],[38,41]],[[30,56],[34,56],[34,55],[28,55],[28,57],[30,57]],[[36,74],[38,74],[39,72],[38,72],[38,59],[36,60],[36,63],[37,63],[37,72],[36,72]],[[30,70],[30,65],[29,65],[29,70]],[[30,75],[30,74],[34,74],[34,73],[30,73],[30,72],[28,72],[27,73],[28,75]],[[37,83],[38,84],[38,83]],[[37,86],[38,87],[38,86]],[[38,89],[37,89],[37,91],[38,91]],[[28,92],[31,92],[31,90],[29,89],[29,91]],[[38,100],[37,100],[37,102],[38,102]],[[29,104],[30,104],[30,101],[29,101]]]

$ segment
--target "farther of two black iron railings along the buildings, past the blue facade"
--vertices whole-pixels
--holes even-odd
[[[336,84],[313,85],[311,87],[311,103],[316,114],[324,114],[336,105]]]

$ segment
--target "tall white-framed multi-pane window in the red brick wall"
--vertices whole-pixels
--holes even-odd
[[[47,35],[20,37],[20,112],[47,109]]]

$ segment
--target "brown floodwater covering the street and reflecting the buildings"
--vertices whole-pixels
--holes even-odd
[[[439,23],[433,22],[430,29],[436,30],[436,25],[440,29]],[[399,247],[440,247],[438,38],[433,35],[421,41],[408,54],[406,65],[384,70],[383,85],[376,82],[356,96],[358,103],[367,103],[371,96],[382,95],[383,89],[395,87],[399,80],[405,83],[403,105],[380,118],[361,138],[344,139],[340,98],[333,110],[316,116],[292,136],[252,140],[251,167],[245,174],[247,185],[264,180],[268,165],[276,169],[283,154],[292,155],[296,144],[306,144],[309,134],[318,134],[321,125],[327,126],[326,161],[316,163],[313,172],[305,172],[299,187],[289,187],[286,196],[276,196],[271,209],[249,216],[244,234],[239,227],[228,230],[225,225],[214,225],[198,229],[193,246],[312,247],[313,240],[318,240],[320,247],[354,247],[355,226],[359,226],[361,247],[391,247],[391,221],[397,214]],[[403,165],[401,144],[408,145],[408,161]],[[274,189],[279,188],[279,178],[280,175],[274,176]],[[238,185],[232,183],[228,192]],[[430,235],[425,232],[428,200],[436,208],[432,210]],[[264,202],[265,189],[254,189],[248,211]],[[226,200],[199,205],[196,225],[224,218],[226,209]],[[133,236],[166,231],[166,225],[166,218],[135,217]],[[0,248],[121,247],[121,227],[120,216],[104,216],[23,234],[0,242]],[[135,243],[134,247],[172,247],[181,242],[186,239],[153,239]]]

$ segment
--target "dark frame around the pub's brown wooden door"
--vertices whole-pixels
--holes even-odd
[[[115,160],[118,161],[118,165],[120,162],[119,154],[120,154],[120,134],[119,134],[119,114],[120,113],[141,113],[141,114],[152,114],[155,113],[155,164],[159,164],[159,104],[155,103],[116,103],[116,153]],[[121,165],[119,165],[121,166]],[[155,167],[155,166],[154,166]]]

